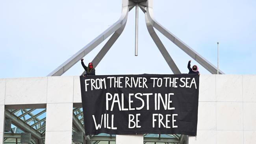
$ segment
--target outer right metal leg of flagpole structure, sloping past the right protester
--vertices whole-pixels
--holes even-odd
[[[165,37],[167,37],[170,41],[172,41],[176,46],[178,46],[180,49],[182,49],[184,52],[186,52],[187,55],[195,59],[200,65],[202,65],[206,70],[211,72],[211,74],[217,74],[217,68],[211,64],[209,61],[207,61],[204,57],[199,55],[195,50],[190,48],[187,44],[185,44],[183,41],[178,39],[173,33],[165,29],[161,24],[159,24],[155,18],[152,8],[152,0],[148,0],[147,2],[148,6],[146,7],[146,11],[148,13],[147,17],[150,22],[150,24],[156,28],[156,30],[160,31]],[[224,74],[221,70],[219,70],[220,74]]]

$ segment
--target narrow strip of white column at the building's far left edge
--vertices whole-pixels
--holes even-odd
[[[6,79],[0,79],[0,144],[4,143],[4,99]]]

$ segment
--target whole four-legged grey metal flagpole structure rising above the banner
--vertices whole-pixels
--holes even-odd
[[[48,74],[48,76],[61,76],[67,70],[69,70],[69,68],[71,68],[78,61],[80,61],[80,59],[82,59],[85,55],[89,54],[89,52],[91,52],[96,46],[98,46],[101,42],[103,42],[111,34],[113,34],[110,37],[110,39],[106,42],[106,44],[103,46],[103,48],[100,50],[100,52],[96,55],[96,57],[93,59],[92,63],[94,65],[94,67],[96,67],[98,65],[98,63],[100,63],[100,61],[102,60],[104,55],[106,55],[106,53],[111,48],[111,46],[115,43],[115,41],[121,35],[121,33],[124,30],[124,27],[126,25],[128,13],[133,7],[136,7],[136,9],[137,9],[137,7],[140,7],[141,10],[145,13],[145,20],[146,20],[148,32],[174,74],[180,74],[180,70],[174,63],[172,57],[167,52],[165,46],[163,45],[163,43],[159,39],[158,35],[154,31],[154,28],[156,30],[160,31],[160,33],[162,33],[165,37],[167,37],[171,42],[176,44],[176,46],[178,46],[181,50],[183,50],[192,59],[195,59],[195,61],[197,61],[200,65],[202,65],[204,68],[206,68],[206,70],[208,70],[211,74],[217,74],[217,68],[213,64],[211,64],[204,57],[199,55],[195,50],[193,50],[187,44],[185,44],[183,41],[178,39],[178,37],[173,35],[173,33],[171,33],[166,28],[161,26],[161,24],[159,24],[155,20],[154,13],[153,13],[153,7],[152,7],[152,3],[153,3],[152,1],[153,0],[122,0],[122,14],[121,14],[121,17],[119,18],[119,20],[117,20],[117,22],[115,22],[112,26],[110,26],[103,33],[98,35],[98,37],[96,37],[89,44],[84,46],[76,54],[74,54],[72,57],[70,57],[67,61],[65,61],[63,64],[61,64],[58,68],[56,68],[54,71],[52,71],[50,74]],[[221,70],[219,70],[219,74],[224,74],[224,73]]]

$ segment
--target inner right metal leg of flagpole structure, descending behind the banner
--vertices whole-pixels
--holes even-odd
[[[171,55],[169,55],[168,51],[166,50],[165,46],[163,45],[163,43],[161,42],[161,40],[159,39],[158,35],[156,34],[156,31],[154,30],[153,26],[150,24],[148,17],[147,17],[147,12],[145,13],[145,19],[146,19],[146,25],[147,25],[147,29],[148,29],[148,33],[150,34],[150,36],[152,37],[153,41],[155,42],[156,46],[158,47],[158,49],[160,50],[161,54],[163,55],[165,61],[167,62],[167,64],[169,65],[169,67],[171,68],[171,70],[173,71],[173,74],[181,74],[179,68],[177,67],[177,65],[174,63]]]

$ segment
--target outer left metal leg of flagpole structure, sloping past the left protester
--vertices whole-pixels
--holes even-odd
[[[79,50],[76,54],[74,54],[72,57],[70,57],[67,61],[65,61],[63,64],[61,64],[58,68],[56,68],[54,71],[52,71],[48,76],[61,76],[64,72],[69,70],[70,67],[72,67],[74,64],[76,64],[82,57],[87,55],[89,52],[91,52],[98,44],[103,42],[105,39],[107,39],[112,33],[117,31],[119,28],[121,28],[128,17],[129,12],[129,5],[134,4],[133,2],[130,2],[129,0],[122,0],[122,14],[119,20],[115,22],[112,26],[110,26],[106,31],[98,35],[93,41],[91,41],[89,44],[84,46],[81,50]]]

